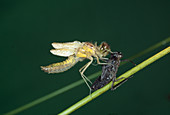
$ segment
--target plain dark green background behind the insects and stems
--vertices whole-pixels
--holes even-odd
[[[50,54],[54,41],[106,41],[126,59],[170,36],[169,0],[1,0],[0,9],[0,114],[81,79],[78,70],[88,60],[60,74],[40,70],[40,65],[65,59]],[[166,46],[134,62],[139,64]],[[169,115],[169,58],[161,58],[74,114]],[[131,67],[122,66],[118,75]],[[100,66],[90,66],[85,74],[99,70]],[[83,84],[19,115],[57,114],[88,93]]]

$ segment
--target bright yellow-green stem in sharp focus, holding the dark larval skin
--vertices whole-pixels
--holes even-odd
[[[150,57],[149,59],[143,61],[142,63],[140,63],[139,65],[137,65],[136,67],[130,69],[129,71],[127,71],[126,73],[122,74],[121,76],[119,76],[117,79],[119,78],[128,78],[131,75],[133,75],[134,73],[138,72],[139,70],[143,69],[144,67],[148,66],[149,64],[153,63],[154,61],[158,60],[159,58],[163,57],[164,55],[168,54],[170,52],[170,47],[167,47],[166,49],[162,50],[161,52],[155,54],[154,56]],[[120,83],[121,81],[123,81],[124,79],[120,79],[117,82],[115,82],[115,85]],[[94,93],[92,93],[91,95],[85,97],[84,99],[80,100],[79,102],[77,102],[76,104],[72,105],[71,107],[69,107],[68,109],[64,110],[63,112],[59,113],[59,115],[67,115],[72,113],[73,111],[77,110],[78,108],[82,107],[83,105],[85,105],[86,103],[90,102],[91,100],[93,100],[94,98],[98,97],[99,95],[103,94],[104,92],[106,92],[107,90],[109,90],[111,88],[112,82],[110,82],[108,85],[106,85],[105,87],[95,91]]]

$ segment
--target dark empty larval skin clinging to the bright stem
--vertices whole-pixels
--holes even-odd
[[[124,78],[124,77],[116,79],[116,73],[118,71],[118,68],[119,68],[119,65],[121,62],[120,59],[122,57],[123,57],[123,55],[121,52],[112,52],[110,58],[108,60],[105,60],[107,62],[107,65],[102,66],[101,76],[99,76],[92,84],[91,89],[93,91],[96,91],[96,90],[104,87],[111,81],[113,81],[111,90],[114,90],[128,80],[128,78]],[[122,61],[130,61],[130,60],[122,60]],[[133,63],[132,61],[130,61],[130,62]],[[135,63],[133,63],[133,64],[136,65]],[[119,84],[114,85],[114,82],[118,81],[120,79],[124,79],[124,80],[121,81]]]

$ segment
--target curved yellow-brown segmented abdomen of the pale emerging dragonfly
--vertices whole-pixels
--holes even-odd
[[[68,69],[73,67],[78,61],[80,61],[79,58],[69,56],[68,59],[66,59],[63,62],[50,64],[48,66],[41,66],[41,69],[48,73],[60,73],[67,71]]]

